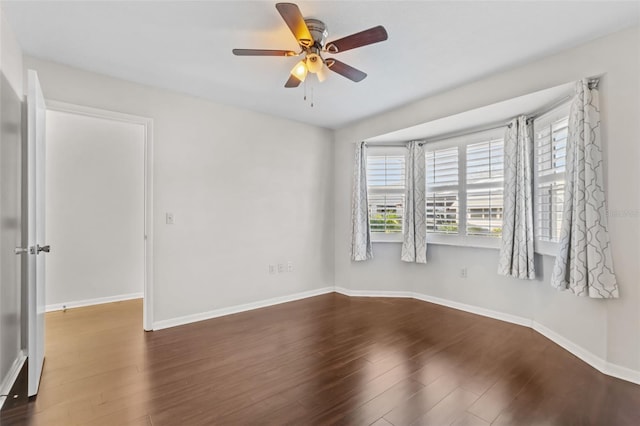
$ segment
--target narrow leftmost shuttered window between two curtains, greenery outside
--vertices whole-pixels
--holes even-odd
[[[367,148],[369,223],[374,241],[402,241],[404,147]]]

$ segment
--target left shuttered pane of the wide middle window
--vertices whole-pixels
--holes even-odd
[[[457,146],[426,152],[427,232],[458,233],[458,173]]]

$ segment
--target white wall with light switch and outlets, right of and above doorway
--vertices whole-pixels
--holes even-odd
[[[156,322],[333,285],[329,131],[34,58],[25,68],[47,99],[154,119]],[[293,272],[268,273],[289,260]]]

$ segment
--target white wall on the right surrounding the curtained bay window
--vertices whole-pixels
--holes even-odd
[[[370,117],[335,135],[336,286],[415,291],[533,320],[602,360],[640,372],[640,87],[639,31],[626,30],[399,109]],[[468,111],[586,76],[601,79],[605,175],[619,300],[592,300],[549,286],[553,259],[537,259],[541,278],[524,282],[496,274],[498,252],[431,245],[427,265],[399,260],[400,245],[374,244],[372,261],[349,260],[354,142]],[[520,111],[514,111],[517,115]],[[468,278],[458,277],[461,266]],[[640,377],[640,376],[638,376]]]

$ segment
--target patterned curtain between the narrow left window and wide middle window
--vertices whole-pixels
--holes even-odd
[[[425,158],[422,142],[407,144],[402,257],[405,262],[427,263]]]

